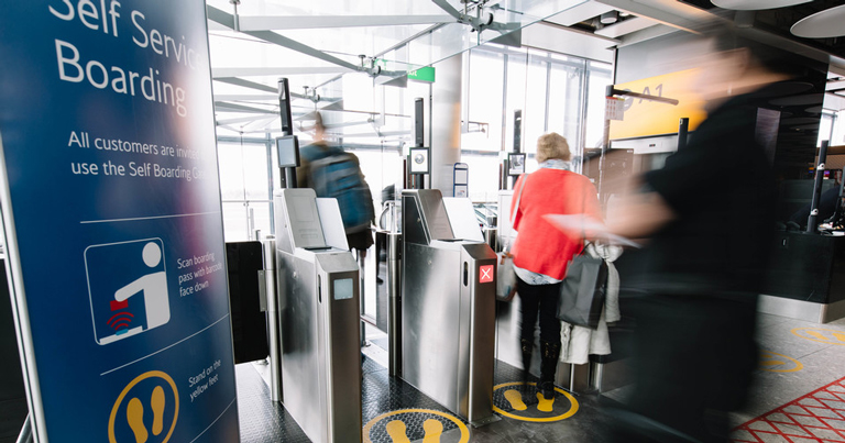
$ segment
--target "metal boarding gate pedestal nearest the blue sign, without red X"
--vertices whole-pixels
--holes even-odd
[[[361,442],[359,267],[334,199],[274,195],[283,401],[312,442]]]

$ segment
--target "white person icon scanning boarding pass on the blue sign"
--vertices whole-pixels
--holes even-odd
[[[144,245],[142,252],[144,264],[155,268],[162,263],[162,248],[155,242]],[[147,330],[161,326],[171,320],[171,303],[167,297],[167,275],[164,269],[139,277],[136,280],[118,289],[114,300],[123,302],[130,297],[143,292],[146,310]]]

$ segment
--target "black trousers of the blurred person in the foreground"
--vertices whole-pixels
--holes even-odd
[[[726,412],[742,407],[758,359],[755,303],[754,297],[693,295],[632,303],[630,410],[701,442],[727,442]],[[648,425],[628,424],[634,424],[625,430],[629,434],[613,441],[685,441],[644,438]]]

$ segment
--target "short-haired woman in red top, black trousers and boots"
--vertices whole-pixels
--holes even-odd
[[[595,187],[586,177],[570,171],[571,153],[567,140],[549,133],[537,140],[540,168],[519,177],[514,187],[519,197],[512,200],[514,270],[522,301],[524,379],[527,380],[534,347],[535,324],[540,318],[539,389],[546,399],[555,397],[555,370],[560,356],[558,292],[572,255],[583,247],[580,235],[567,234],[544,219],[546,214],[585,214],[602,220]]]

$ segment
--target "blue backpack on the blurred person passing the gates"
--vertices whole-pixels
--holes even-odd
[[[317,197],[338,200],[347,234],[369,229],[375,217],[373,196],[355,157],[334,147],[321,153],[316,147],[308,151],[304,149],[303,154],[310,162],[311,182]]]

